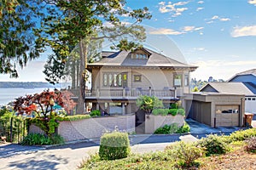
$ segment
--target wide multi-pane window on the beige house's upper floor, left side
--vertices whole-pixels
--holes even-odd
[[[127,87],[127,73],[103,73],[104,87]]]

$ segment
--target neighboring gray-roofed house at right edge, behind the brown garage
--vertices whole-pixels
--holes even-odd
[[[209,82],[201,92],[245,95],[245,111],[256,114],[256,69],[243,71],[227,82]]]

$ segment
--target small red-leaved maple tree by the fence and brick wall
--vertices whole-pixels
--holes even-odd
[[[71,93],[67,91],[50,92],[45,90],[41,94],[26,95],[15,100],[14,110],[18,112],[18,115],[31,115],[33,112],[37,114],[37,118],[34,119],[36,123],[44,133],[50,136],[55,133],[55,127],[58,126],[58,122],[55,121],[55,105],[61,105],[67,112],[73,110],[75,103],[70,97]]]

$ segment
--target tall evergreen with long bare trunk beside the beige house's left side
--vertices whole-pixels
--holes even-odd
[[[120,50],[129,50],[138,46],[145,37],[143,26],[137,26],[144,19],[150,19],[148,8],[125,9],[125,0],[45,0],[49,6],[49,17],[44,19],[44,42],[51,47],[55,58],[49,60],[44,73],[49,82],[61,79],[63,64],[67,62],[73,48],[79,44],[79,105],[84,104],[86,67],[89,44],[93,40],[108,39],[119,44]],[[130,25],[122,23],[120,18],[133,20]],[[133,41],[129,42],[128,38]],[[51,57],[52,58],[52,57]],[[54,62],[52,62],[54,60]],[[53,69],[52,69],[53,68]],[[58,69],[60,68],[60,69]],[[58,72],[55,72],[58,71]],[[79,107],[81,108],[81,107]],[[83,112],[80,110],[79,112]]]

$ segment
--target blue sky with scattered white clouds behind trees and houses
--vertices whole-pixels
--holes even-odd
[[[127,7],[148,7],[151,20],[145,46],[173,59],[198,66],[197,80],[228,80],[256,68],[256,0],[127,0]],[[124,20],[129,22],[129,20]],[[0,81],[45,82],[42,73],[49,52],[30,62],[20,77]]]

